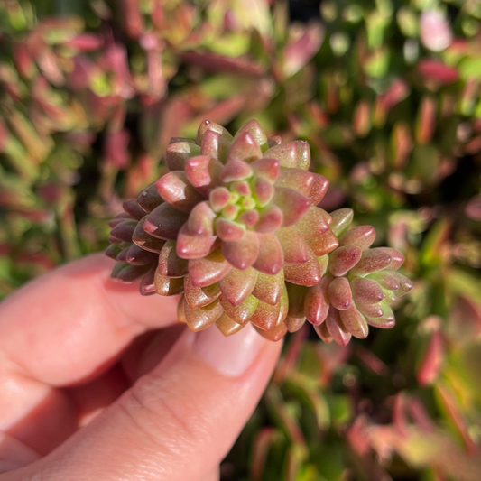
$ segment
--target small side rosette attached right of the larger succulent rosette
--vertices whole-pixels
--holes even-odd
[[[353,212],[339,209],[331,214],[330,229],[338,237],[338,248],[326,256],[321,281],[296,292],[297,310],[286,322],[297,330],[307,320],[325,342],[346,346],[350,338],[365,338],[368,327],[392,328],[391,305],[411,291],[412,282],[396,272],[404,262],[398,251],[388,247],[369,248],[375,241],[371,226],[349,227]]]

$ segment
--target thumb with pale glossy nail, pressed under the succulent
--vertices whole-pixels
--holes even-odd
[[[69,481],[211,479],[254,411],[280,349],[250,324],[231,338],[215,328],[185,332],[152,372],[26,469]]]

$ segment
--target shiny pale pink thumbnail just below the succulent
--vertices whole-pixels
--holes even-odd
[[[265,341],[247,324],[228,338],[212,326],[200,332],[194,344],[199,355],[218,373],[237,377],[252,365]]]

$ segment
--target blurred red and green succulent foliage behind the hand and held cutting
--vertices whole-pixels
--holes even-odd
[[[397,325],[287,338],[224,480],[479,480],[479,0],[0,0],[0,295],[102,250],[171,137],[310,142],[414,280]]]

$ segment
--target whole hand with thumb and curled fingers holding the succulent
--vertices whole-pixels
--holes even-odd
[[[215,481],[281,350],[191,333],[94,254],[0,304],[0,481]],[[162,330],[159,330],[162,329]]]

